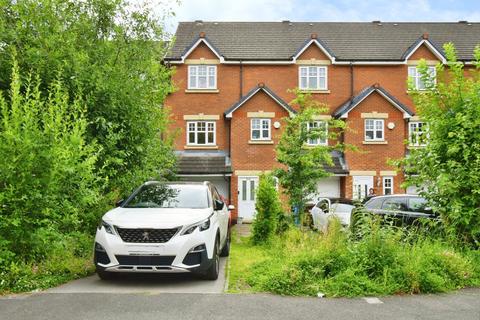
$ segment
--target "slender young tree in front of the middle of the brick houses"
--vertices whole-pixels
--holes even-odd
[[[317,182],[330,174],[325,166],[333,165],[331,151],[344,150],[344,144],[338,141],[345,130],[345,122],[325,118],[324,124],[310,125],[322,114],[328,114],[328,107],[312,99],[310,94],[295,91],[292,104],[298,113],[285,118],[285,129],[276,148],[277,161],[284,168],[277,169],[275,175],[289,198],[289,204],[299,215],[305,210],[309,198],[316,193]],[[312,140],[335,141],[334,145],[308,144]]]

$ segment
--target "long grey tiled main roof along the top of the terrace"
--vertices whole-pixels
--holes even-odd
[[[453,42],[459,60],[473,60],[480,23],[180,22],[167,59],[179,59],[201,32],[225,60],[291,60],[312,34],[337,61],[400,61],[428,34],[441,49]]]

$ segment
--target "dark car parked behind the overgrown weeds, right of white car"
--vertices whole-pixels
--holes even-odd
[[[395,222],[413,224],[418,219],[436,219],[427,200],[417,195],[396,194],[378,196],[364,204],[365,209],[376,215],[390,216]]]

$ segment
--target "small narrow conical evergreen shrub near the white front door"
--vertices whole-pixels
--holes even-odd
[[[252,225],[252,240],[255,244],[261,244],[268,242],[277,231],[282,214],[282,205],[278,198],[273,176],[260,176],[256,198],[256,215]]]

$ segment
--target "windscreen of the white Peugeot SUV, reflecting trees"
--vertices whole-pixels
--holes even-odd
[[[207,187],[203,185],[144,185],[123,205],[124,208],[208,208]]]

